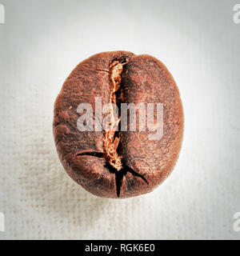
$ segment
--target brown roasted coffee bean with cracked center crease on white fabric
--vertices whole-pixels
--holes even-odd
[[[101,108],[114,103],[118,110],[109,105],[101,117],[99,106],[95,109],[97,97]],[[87,112],[78,109],[81,103],[90,104],[93,114],[92,122],[86,118],[82,126],[94,130],[79,130],[79,118]],[[136,122],[127,120],[122,103],[141,103],[146,112],[138,110]],[[159,103],[163,130],[162,137],[155,138],[150,128],[158,121]],[[154,106],[154,123],[147,119],[147,105]],[[53,127],[62,166],[75,182],[101,197],[130,198],[150,192],[173,170],[182,144],[182,102],[174,79],[158,59],[105,52],[78,64],[66,79],[54,105]]]

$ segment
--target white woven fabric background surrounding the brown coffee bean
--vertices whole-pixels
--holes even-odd
[[[0,239],[239,239],[240,24],[236,1],[1,0]],[[170,178],[138,198],[98,198],[54,148],[54,99],[70,71],[106,50],[152,54],[185,111]]]

